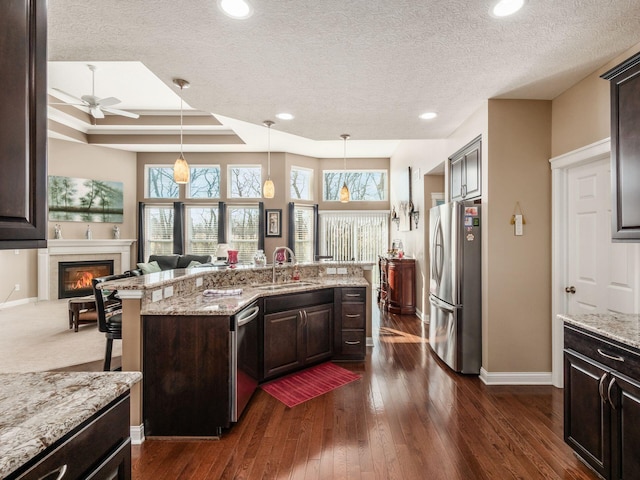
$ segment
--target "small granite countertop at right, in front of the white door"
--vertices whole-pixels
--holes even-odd
[[[605,338],[640,349],[640,315],[623,313],[582,313],[558,315],[568,324]]]

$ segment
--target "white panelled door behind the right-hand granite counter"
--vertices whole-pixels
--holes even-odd
[[[567,173],[567,313],[637,312],[638,247],[611,241],[609,160]]]

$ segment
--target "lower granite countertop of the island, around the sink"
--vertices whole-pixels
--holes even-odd
[[[269,289],[269,285],[233,286],[227,289],[241,289],[236,295],[204,296],[203,290],[186,295],[174,295],[159,302],[145,302],[142,315],[234,315],[239,310],[260,297],[284,295],[333,287],[366,287],[369,285],[363,277],[314,278],[308,281],[276,284],[277,289]]]

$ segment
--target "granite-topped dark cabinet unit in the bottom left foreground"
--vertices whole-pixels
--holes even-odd
[[[115,478],[130,478],[128,392],[141,377],[139,372],[0,374],[0,478],[41,478],[63,466],[64,478],[81,478],[105,457],[114,458],[109,468],[123,472]]]

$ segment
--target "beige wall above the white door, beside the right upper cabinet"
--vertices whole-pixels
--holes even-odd
[[[600,75],[639,51],[640,44],[637,44],[553,100],[552,157],[611,135],[609,82]]]

